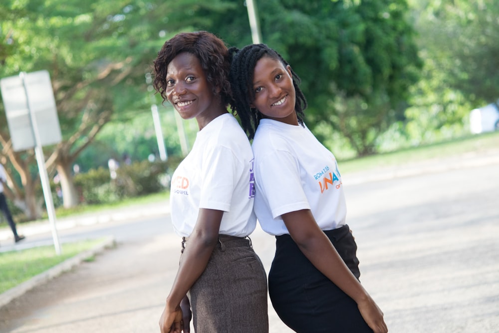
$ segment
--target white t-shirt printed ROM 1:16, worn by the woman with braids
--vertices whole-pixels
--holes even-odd
[[[280,215],[310,209],[322,230],[345,225],[346,202],[334,155],[305,126],[261,119],[252,144],[254,211],[271,235],[289,234]]]

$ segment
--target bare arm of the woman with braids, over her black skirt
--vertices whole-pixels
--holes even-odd
[[[367,325],[375,333],[388,332],[383,313],[350,272],[327,236],[320,230],[312,212],[304,209],[282,214],[281,217],[289,235],[301,252],[312,265],[357,303]]]

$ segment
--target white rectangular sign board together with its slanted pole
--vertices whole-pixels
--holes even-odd
[[[46,70],[21,72],[0,80],[5,116],[15,151],[34,148],[55,252],[61,254],[55,209],[45,168],[43,145],[61,141],[61,131],[50,76]]]

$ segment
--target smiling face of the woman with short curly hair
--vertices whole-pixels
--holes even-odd
[[[225,111],[194,54],[183,52],[170,61],[166,83],[168,101],[183,119],[196,118],[200,129]]]

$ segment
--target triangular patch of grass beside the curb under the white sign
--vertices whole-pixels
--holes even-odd
[[[0,253],[0,294],[102,242],[103,238],[65,243],[60,256],[53,245]]]

